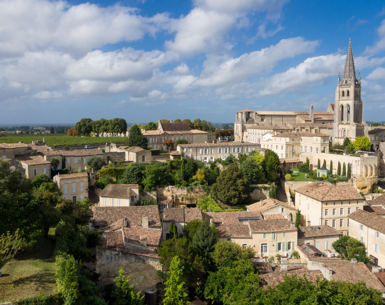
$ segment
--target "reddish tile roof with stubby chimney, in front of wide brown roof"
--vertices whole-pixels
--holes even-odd
[[[140,245],[140,237],[146,236],[146,247],[152,250],[156,250],[159,247],[162,239],[162,230],[144,228],[141,225],[136,225],[132,222],[127,222],[127,226],[122,227],[122,229],[125,242]]]

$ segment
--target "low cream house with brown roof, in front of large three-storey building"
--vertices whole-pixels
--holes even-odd
[[[331,245],[343,234],[328,225],[305,226],[298,228],[298,245],[312,245],[328,257],[335,257],[338,253]]]

